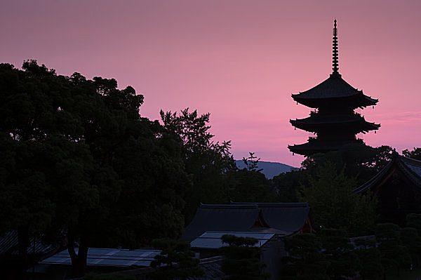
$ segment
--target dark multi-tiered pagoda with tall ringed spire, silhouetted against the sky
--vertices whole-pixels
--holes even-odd
[[[333,72],[329,78],[308,91],[293,94],[293,99],[302,105],[314,108],[305,119],[290,120],[295,128],[316,134],[308,142],[300,145],[288,145],[295,154],[311,156],[338,150],[344,145],[365,145],[356,134],[376,131],[380,124],[366,121],[354,109],[374,106],[377,99],[370,98],[349,85],[338,72],[338,29],[336,20],[333,28]]]

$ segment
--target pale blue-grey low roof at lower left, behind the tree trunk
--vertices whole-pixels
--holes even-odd
[[[77,253],[78,248],[74,249]],[[159,250],[128,250],[128,249],[108,249],[89,248],[86,265],[88,266],[110,266],[110,267],[149,267]],[[71,265],[72,260],[67,250],[61,251],[40,264],[49,265]]]

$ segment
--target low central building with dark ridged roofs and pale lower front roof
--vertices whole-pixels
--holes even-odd
[[[314,232],[309,211],[307,202],[201,204],[182,239],[190,242],[201,260],[220,255],[220,247],[227,246],[221,240],[225,234],[258,239],[260,261],[267,265],[263,271],[275,280],[281,277],[283,238]]]

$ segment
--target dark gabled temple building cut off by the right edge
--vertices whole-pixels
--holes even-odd
[[[370,190],[378,199],[379,222],[406,225],[406,215],[421,213],[421,161],[396,154],[377,175],[360,187],[357,194]]]

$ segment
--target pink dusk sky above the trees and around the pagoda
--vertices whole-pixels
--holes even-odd
[[[215,140],[236,159],[300,166],[307,141],[289,119],[310,109],[290,97],[328,78],[333,19],[339,72],[380,101],[368,145],[421,142],[421,1],[10,0],[0,3],[0,62],[33,58],[58,74],[115,78],[145,95],[142,116],[210,112]]]

